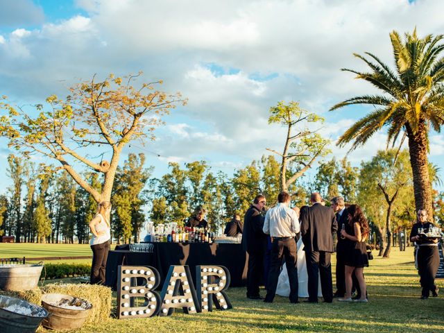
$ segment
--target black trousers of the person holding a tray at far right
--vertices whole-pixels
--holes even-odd
[[[429,296],[430,291],[436,291],[435,276],[438,272],[438,246],[420,246],[418,249],[418,271],[422,287],[422,296]]]

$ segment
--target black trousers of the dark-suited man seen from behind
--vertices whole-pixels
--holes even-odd
[[[321,277],[322,296],[325,302],[333,300],[332,254],[325,251],[306,251],[308,273],[308,299],[318,301],[318,280]]]

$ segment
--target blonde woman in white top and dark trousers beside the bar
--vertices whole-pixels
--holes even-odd
[[[97,214],[89,222],[89,229],[92,232],[89,245],[92,249],[91,278],[92,284],[105,283],[106,260],[108,259],[108,250],[110,250],[110,212],[111,203],[102,201],[97,206]]]

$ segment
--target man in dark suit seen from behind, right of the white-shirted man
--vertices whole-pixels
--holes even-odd
[[[318,302],[318,278],[324,302],[333,301],[332,264],[333,232],[338,230],[331,207],[322,205],[318,192],[311,194],[311,207],[300,210],[300,234],[304,243],[308,273],[308,302]]]

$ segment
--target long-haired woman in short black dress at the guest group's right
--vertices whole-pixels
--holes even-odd
[[[366,280],[364,279],[364,266],[368,267],[368,257],[366,249],[366,239],[369,229],[368,221],[362,214],[358,205],[350,205],[347,208],[348,223],[351,232],[348,234],[345,230],[341,230],[341,237],[350,239],[353,242],[350,251],[345,258],[345,295],[339,298],[341,302],[352,301],[352,273],[355,271],[356,278],[361,289],[361,298],[356,302],[368,302],[366,298]]]

